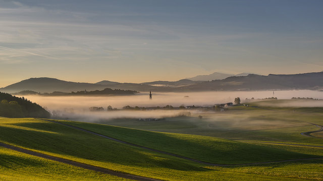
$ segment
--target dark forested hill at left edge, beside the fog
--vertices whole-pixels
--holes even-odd
[[[49,118],[50,114],[36,103],[0,92],[0,116],[8,118]]]

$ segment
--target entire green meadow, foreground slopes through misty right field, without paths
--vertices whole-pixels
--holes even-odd
[[[244,165],[196,163],[34,118],[0,118],[0,142],[162,180],[323,180],[323,148],[310,147],[323,146],[321,132],[312,134],[315,137],[300,134],[318,130],[312,124],[322,125],[322,118],[318,108],[250,104],[156,121],[115,119],[97,124],[54,120],[205,162]],[[259,163],[302,158],[316,159]],[[1,180],[126,180],[3,147],[0,170]]]

